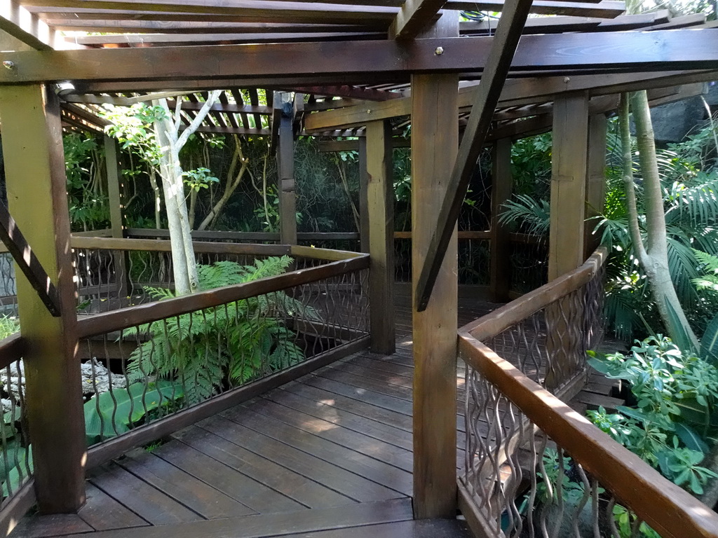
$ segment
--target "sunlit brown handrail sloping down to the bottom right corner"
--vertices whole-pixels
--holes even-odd
[[[462,359],[663,538],[716,538],[718,514],[612,440],[467,331]]]

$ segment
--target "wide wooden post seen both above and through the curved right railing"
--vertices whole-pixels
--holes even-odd
[[[588,148],[588,95],[566,95],[554,102],[554,148],[551,154],[551,230],[549,282],[584,262],[584,215]],[[546,387],[554,390],[573,374],[571,357],[582,339],[582,311],[570,298],[546,308],[546,348],[553,368]],[[578,326],[574,325],[578,324]]]

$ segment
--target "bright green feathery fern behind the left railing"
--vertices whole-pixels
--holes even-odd
[[[292,258],[256,260],[253,265],[221,261],[199,265],[200,288],[208,290],[276,276]],[[174,297],[166,288],[146,288],[159,300]],[[304,360],[285,318],[320,318],[314,308],[282,291],[266,293],[201,311],[126,329],[124,336],[149,334],[131,354],[130,381],[156,376],[185,387],[185,403],[206,400],[223,387],[244,384]]]

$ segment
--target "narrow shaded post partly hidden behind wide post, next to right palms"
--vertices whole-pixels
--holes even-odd
[[[592,115],[588,120],[584,260],[592,255],[601,242],[600,236],[593,234],[598,222],[591,217],[603,212],[606,198],[606,124],[606,116],[603,114]]]

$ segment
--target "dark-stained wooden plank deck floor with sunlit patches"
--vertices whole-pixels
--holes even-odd
[[[462,300],[459,324],[492,307]],[[27,516],[11,537],[470,536],[412,521],[408,298],[396,324],[391,357],[363,351],[134,450],[90,474],[77,515]]]

